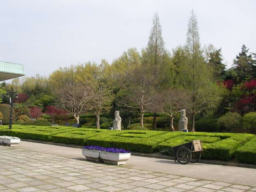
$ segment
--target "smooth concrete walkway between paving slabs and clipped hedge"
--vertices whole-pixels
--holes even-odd
[[[21,141],[17,148],[85,160],[85,157],[82,156],[81,149],[77,148],[26,141]],[[175,164],[172,160],[139,156],[131,156],[127,164],[122,167],[256,187],[256,169],[253,168],[202,163],[181,165],[178,163]]]

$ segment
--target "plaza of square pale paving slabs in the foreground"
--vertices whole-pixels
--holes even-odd
[[[38,151],[0,146],[0,192],[256,192],[255,183],[196,179]]]

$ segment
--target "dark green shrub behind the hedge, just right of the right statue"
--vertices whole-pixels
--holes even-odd
[[[218,132],[220,126],[217,121],[218,119],[201,118],[195,121],[195,130],[197,132]]]

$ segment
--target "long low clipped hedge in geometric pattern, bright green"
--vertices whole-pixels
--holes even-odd
[[[149,130],[106,130],[64,126],[7,125],[0,126],[0,135],[46,140],[74,145],[100,145],[119,147],[141,153],[181,145],[191,140],[203,143],[202,158],[230,160],[235,155],[240,162],[255,163],[256,138],[253,134],[234,133],[185,133]],[[243,146],[244,145],[244,146]]]

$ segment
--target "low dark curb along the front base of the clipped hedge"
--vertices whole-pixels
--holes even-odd
[[[79,145],[69,145],[69,144],[63,144],[63,143],[55,143],[55,142],[39,141],[39,140],[31,140],[31,139],[20,139],[20,140],[27,141],[27,142],[37,142],[37,143],[48,144],[48,145],[57,145],[57,146],[62,146],[62,147],[73,147],[73,148],[78,148],[78,149],[82,149],[84,147],[84,146],[79,146]],[[168,155],[163,155],[159,152],[152,153],[152,154],[132,152],[131,155],[140,156],[140,157],[152,157],[152,158],[157,158],[157,159],[174,160],[174,157],[171,157]],[[239,163],[239,162],[225,162],[225,161],[220,161],[220,160],[203,160],[203,159],[199,160],[198,162],[204,163],[204,164],[235,166],[235,167],[256,169],[256,165],[254,165],[254,164],[243,164],[243,163]]]

